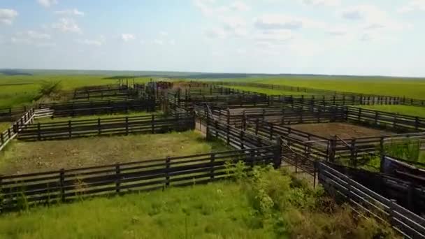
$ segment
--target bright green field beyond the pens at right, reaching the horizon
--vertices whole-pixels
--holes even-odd
[[[312,87],[333,91],[382,94],[425,99],[425,79],[380,77],[284,76],[267,78],[226,79],[226,81],[258,82],[294,87]]]

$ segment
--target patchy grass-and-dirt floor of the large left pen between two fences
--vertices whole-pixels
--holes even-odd
[[[194,131],[32,143],[14,140],[5,152],[0,153],[0,173],[10,175],[101,166],[220,150],[226,150],[226,147],[221,143],[207,142],[201,133]]]

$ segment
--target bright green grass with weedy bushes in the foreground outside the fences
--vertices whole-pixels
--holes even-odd
[[[280,171],[0,216],[0,238],[397,238]],[[380,236],[378,236],[380,235]]]

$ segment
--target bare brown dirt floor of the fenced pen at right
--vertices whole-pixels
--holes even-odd
[[[347,123],[294,124],[290,125],[290,127],[324,138],[332,138],[335,135],[343,139],[348,139],[394,134],[389,131],[370,129],[368,127]]]

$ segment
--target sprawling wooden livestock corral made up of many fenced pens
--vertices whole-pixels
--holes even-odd
[[[381,103],[399,103],[398,99],[381,96],[376,99]],[[342,191],[346,200],[354,200],[352,192],[356,190],[356,193],[366,195],[355,198],[361,210],[373,210],[373,206],[365,205],[368,201],[382,203],[386,208],[377,212],[375,216],[378,219],[386,221],[386,215],[391,215],[389,221],[404,235],[425,235],[425,229],[416,226],[423,219],[403,208],[405,206],[420,214],[424,212],[423,205],[409,204],[402,198],[408,190],[413,191],[409,194],[409,200],[415,195],[424,196],[421,192],[424,189],[422,182],[405,187],[408,181],[394,183],[384,178],[387,181],[382,181],[382,187],[391,188],[391,195],[395,195],[394,198],[398,198],[398,203],[402,205],[395,206],[387,198],[375,195],[364,185],[365,182],[358,184],[340,173],[343,171],[341,167],[347,166],[361,170],[359,168],[370,162],[370,155],[385,154],[388,145],[394,143],[416,140],[419,147],[423,147],[424,118],[347,106],[365,100],[375,102],[375,98],[370,100],[354,95],[346,98],[338,94],[330,98],[312,96],[310,99],[304,96],[267,96],[205,83],[172,85],[150,82],[132,88],[99,87],[75,91],[66,96],[66,102],[38,104],[37,109],[29,109],[1,134],[2,146],[9,143],[8,138],[17,137],[20,140],[8,145],[10,152],[6,152],[6,162],[15,161],[17,164],[3,162],[2,168],[8,175],[1,178],[1,209],[19,208],[22,195],[29,205],[50,205],[92,196],[187,186],[195,181],[196,184],[212,182],[229,177],[226,173],[229,164],[243,161],[250,167],[273,164],[274,168],[280,168],[282,164],[291,164],[296,171],[301,169],[312,175],[313,186],[319,180],[330,194],[335,190],[345,190],[347,186],[344,185],[351,184],[348,194]],[[159,108],[163,113],[34,123],[34,118],[38,117],[153,112]],[[221,143],[211,145],[196,139],[193,133],[185,132],[198,126],[206,134],[207,140]],[[183,132],[178,134],[179,137],[188,134],[193,138],[194,141],[188,142],[191,145],[188,150],[185,147],[152,148],[150,150],[164,150],[162,158],[152,159],[150,154],[143,152],[150,144],[141,149],[138,143],[133,142],[140,139],[157,145],[158,140],[169,136],[164,133],[170,131]],[[128,136],[136,133],[146,135]],[[155,137],[156,133],[161,137]],[[161,144],[185,141],[179,137]],[[131,138],[136,140],[128,143],[127,140]],[[117,140],[122,145],[115,142]],[[87,150],[87,145],[92,145],[89,141],[103,146],[99,150]],[[61,142],[64,142],[62,147]],[[194,146],[196,143],[200,144],[199,148]],[[110,152],[114,151],[114,147],[126,151],[126,145],[129,146],[127,153]],[[27,147],[27,151],[20,150],[22,147]],[[44,149],[49,147],[56,147],[58,152]],[[110,151],[103,150],[103,147]],[[37,154],[28,156],[29,152]],[[61,160],[53,164],[48,161],[49,155]],[[14,157],[20,157],[25,163],[20,164]],[[125,159],[119,162],[104,160],[122,157]],[[47,160],[42,161],[41,158]],[[377,168],[378,171],[380,169],[382,166]],[[382,179],[381,175],[377,178]],[[399,188],[394,189],[394,185]],[[385,190],[380,194],[390,195]],[[400,223],[407,220],[414,222],[413,225]]]

